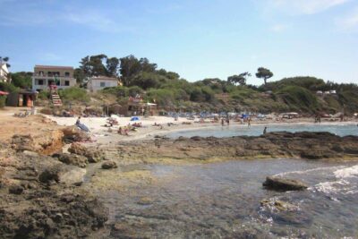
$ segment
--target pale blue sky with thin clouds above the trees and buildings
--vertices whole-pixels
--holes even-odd
[[[188,81],[270,69],[358,83],[358,0],[0,0],[12,72],[147,57]]]

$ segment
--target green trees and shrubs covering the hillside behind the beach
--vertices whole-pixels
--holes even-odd
[[[90,94],[86,88],[87,79],[107,75],[117,77],[122,86],[107,88],[97,94]],[[157,103],[165,110],[186,111],[254,111],[260,113],[295,111],[307,115],[319,112],[345,114],[358,112],[358,86],[337,84],[315,77],[303,76],[268,81],[273,76],[268,69],[260,67],[255,76],[264,84],[246,84],[251,73],[228,76],[227,80],[204,79],[189,82],[178,73],[158,69],[157,64],[147,58],[128,55],[123,58],[107,55],[89,55],[81,59],[75,69],[75,77],[81,88],[60,92],[64,103],[89,105],[119,103],[128,97],[141,97]],[[30,73],[13,73],[13,84],[0,84],[0,90],[13,91],[29,87]],[[336,90],[337,94],[318,95],[316,92]],[[40,98],[46,98],[42,92]]]

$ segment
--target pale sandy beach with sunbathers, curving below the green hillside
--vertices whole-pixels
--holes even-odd
[[[74,125],[77,117],[56,117],[46,115],[47,118],[55,121],[56,124],[62,126]],[[94,141],[91,144],[112,144],[120,141],[137,141],[153,138],[156,135],[165,135],[169,132],[179,132],[186,130],[197,130],[202,128],[215,128],[221,127],[220,123],[211,123],[209,119],[205,120],[204,123],[200,123],[199,119],[188,120],[184,117],[179,117],[177,120],[169,116],[149,116],[139,117],[139,121],[131,121],[132,117],[118,117],[113,115],[118,124],[113,127],[104,126],[107,124],[108,117],[81,117],[81,123],[85,124],[90,129],[91,139]],[[129,136],[120,135],[117,133],[119,127],[127,126],[128,124],[139,123],[142,126],[137,128],[136,131],[130,131]],[[345,122],[329,121],[329,119],[323,119],[320,124],[331,124],[331,125],[345,125],[345,124],[357,124],[356,119],[349,119]],[[161,126],[154,126],[159,124]],[[278,125],[278,124],[315,124],[313,118],[294,118],[294,119],[252,119],[251,125]],[[247,123],[230,121],[230,125],[239,127],[247,127]]]

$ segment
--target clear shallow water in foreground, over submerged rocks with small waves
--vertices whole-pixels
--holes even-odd
[[[112,212],[110,221],[124,224],[133,236],[355,237],[356,164],[269,159],[151,166],[157,183],[101,196]],[[262,188],[267,175],[300,179],[310,188],[304,192],[267,191]],[[289,202],[292,209],[261,207],[263,199]]]

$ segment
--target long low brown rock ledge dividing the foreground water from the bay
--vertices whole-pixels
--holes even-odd
[[[155,140],[123,142],[118,152],[122,158],[141,158],[147,163],[165,159],[202,162],[250,158],[343,160],[358,157],[358,137],[339,137],[329,132],[269,132],[257,137],[195,136],[176,140],[158,136]]]

